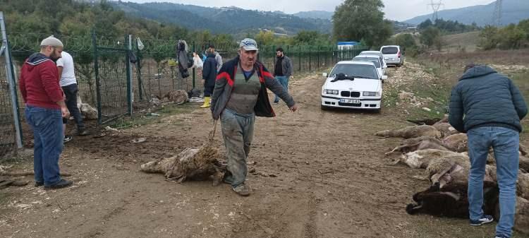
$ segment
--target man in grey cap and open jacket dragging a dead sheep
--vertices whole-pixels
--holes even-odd
[[[212,96],[212,117],[221,118],[222,136],[226,144],[228,171],[224,182],[241,196],[250,195],[245,184],[246,160],[253,140],[255,116],[275,117],[268,100],[267,88],[286,102],[292,112],[298,109],[291,95],[272,74],[257,62],[257,42],[244,39],[239,44],[239,56],[221,68]]]

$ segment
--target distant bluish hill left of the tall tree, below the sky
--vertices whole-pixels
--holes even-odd
[[[332,23],[327,19],[300,18],[281,12],[245,10],[242,8],[210,8],[172,3],[145,3],[112,1],[111,4],[132,16],[176,23],[191,30],[210,30],[214,33],[240,34],[259,29],[293,35],[300,30],[329,33]]]

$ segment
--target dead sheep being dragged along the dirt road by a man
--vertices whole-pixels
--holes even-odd
[[[164,174],[167,180],[184,182],[186,180],[213,179],[214,186],[224,177],[225,167],[219,164],[218,150],[210,146],[187,148],[178,155],[163,160],[147,162],[140,171]]]

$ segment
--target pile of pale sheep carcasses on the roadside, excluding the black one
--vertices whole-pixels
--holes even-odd
[[[432,126],[408,126],[403,129],[379,131],[381,137],[404,138],[401,145],[386,153],[398,155],[395,164],[403,163],[414,169],[425,169],[417,179],[428,179],[433,184],[444,186],[448,183],[468,184],[470,158],[468,137],[459,133],[446,122],[438,121]],[[529,159],[525,148],[520,145],[520,169],[517,181],[517,209],[515,230],[529,233]],[[494,151],[487,157],[485,180],[497,182]]]

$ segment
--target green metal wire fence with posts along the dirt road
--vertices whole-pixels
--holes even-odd
[[[15,78],[23,61],[33,52],[38,52],[39,42],[48,34],[12,32],[8,35]],[[105,123],[123,115],[133,115],[143,102],[154,98],[163,100],[172,90],[203,89],[199,69],[189,69],[190,76],[182,78],[178,71],[176,43],[178,40],[141,39],[143,49],[138,48],[138,38],[124,36],[107,39],[92,35],[61,36],[64,50],[74,58],[78,94],[83,102],[97,107],[99,123]],[[129,40],[130,39],[130,40]],[[188,42],[189,56],[197,52],[202,58],[209,44],[214,44],[223,61],[237,56],[238,42]],[[263,45],[259,46],[259,60],[269,71],[273,71],[276,48],[282,47],[293,63],[293,73],[314,72],[329,69],[336,62],[353,59],[363,49],[338,49],[331,45]],[[130,53],[137,61],[130,62]],[[4,66],[0,61],[0,66]],[[13,144],[13,112],[9,91],[6,90],[5,71],[0,73],[0,154],[3,146]],[[18,86],[17,86],[18,88]],[[23,114],[23,100],[18,95],[20,114]]]

